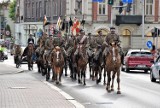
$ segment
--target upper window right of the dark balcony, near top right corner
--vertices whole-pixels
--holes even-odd
[[[153,0],[146,0],[145,14],[146,15],[153,15]]]

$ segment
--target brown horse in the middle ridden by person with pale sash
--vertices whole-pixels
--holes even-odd
[[[86,85],[86,68],[88,63],[88,56],[86,53],[86,49],[84,46],[78,46],[78,60],[77,60],[77,74],[78,74],[78,83],[82,83],[83,77],[83,85]]]

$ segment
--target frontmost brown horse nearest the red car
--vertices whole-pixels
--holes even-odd
[[[121,66],[121,57],[119,54],[119,48],[116,42],[111,42],[109,47],[109,53],[106,56],[106,65],[105,65],[105,72],[107,71],[107,77],[108,77],[106,90],[109,93],[111,91],[114,91],[114,78],[115,78],[115,75],[117,74],[117,83],[118,83],[117,94],[121,94],[120,66]],[[112,73],[112,85],[110,88],[111,73]]]

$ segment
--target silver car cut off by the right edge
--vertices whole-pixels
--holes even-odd
[[[150,70],[150,79],[152,82],[156,82],[157,79],[160,81],[160,56],[157,57],[156,61],[152,61]]]

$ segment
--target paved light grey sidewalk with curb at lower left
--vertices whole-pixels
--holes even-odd
[[[0,68],[3,74],[0,75],[0,108],[84,108],[79,103],[73,104],[72,98],[64,97],[65,93],[56,86],[38,80],[38,74],[9,74],[20,70],[2,63],[0,66],[3,67]]]

